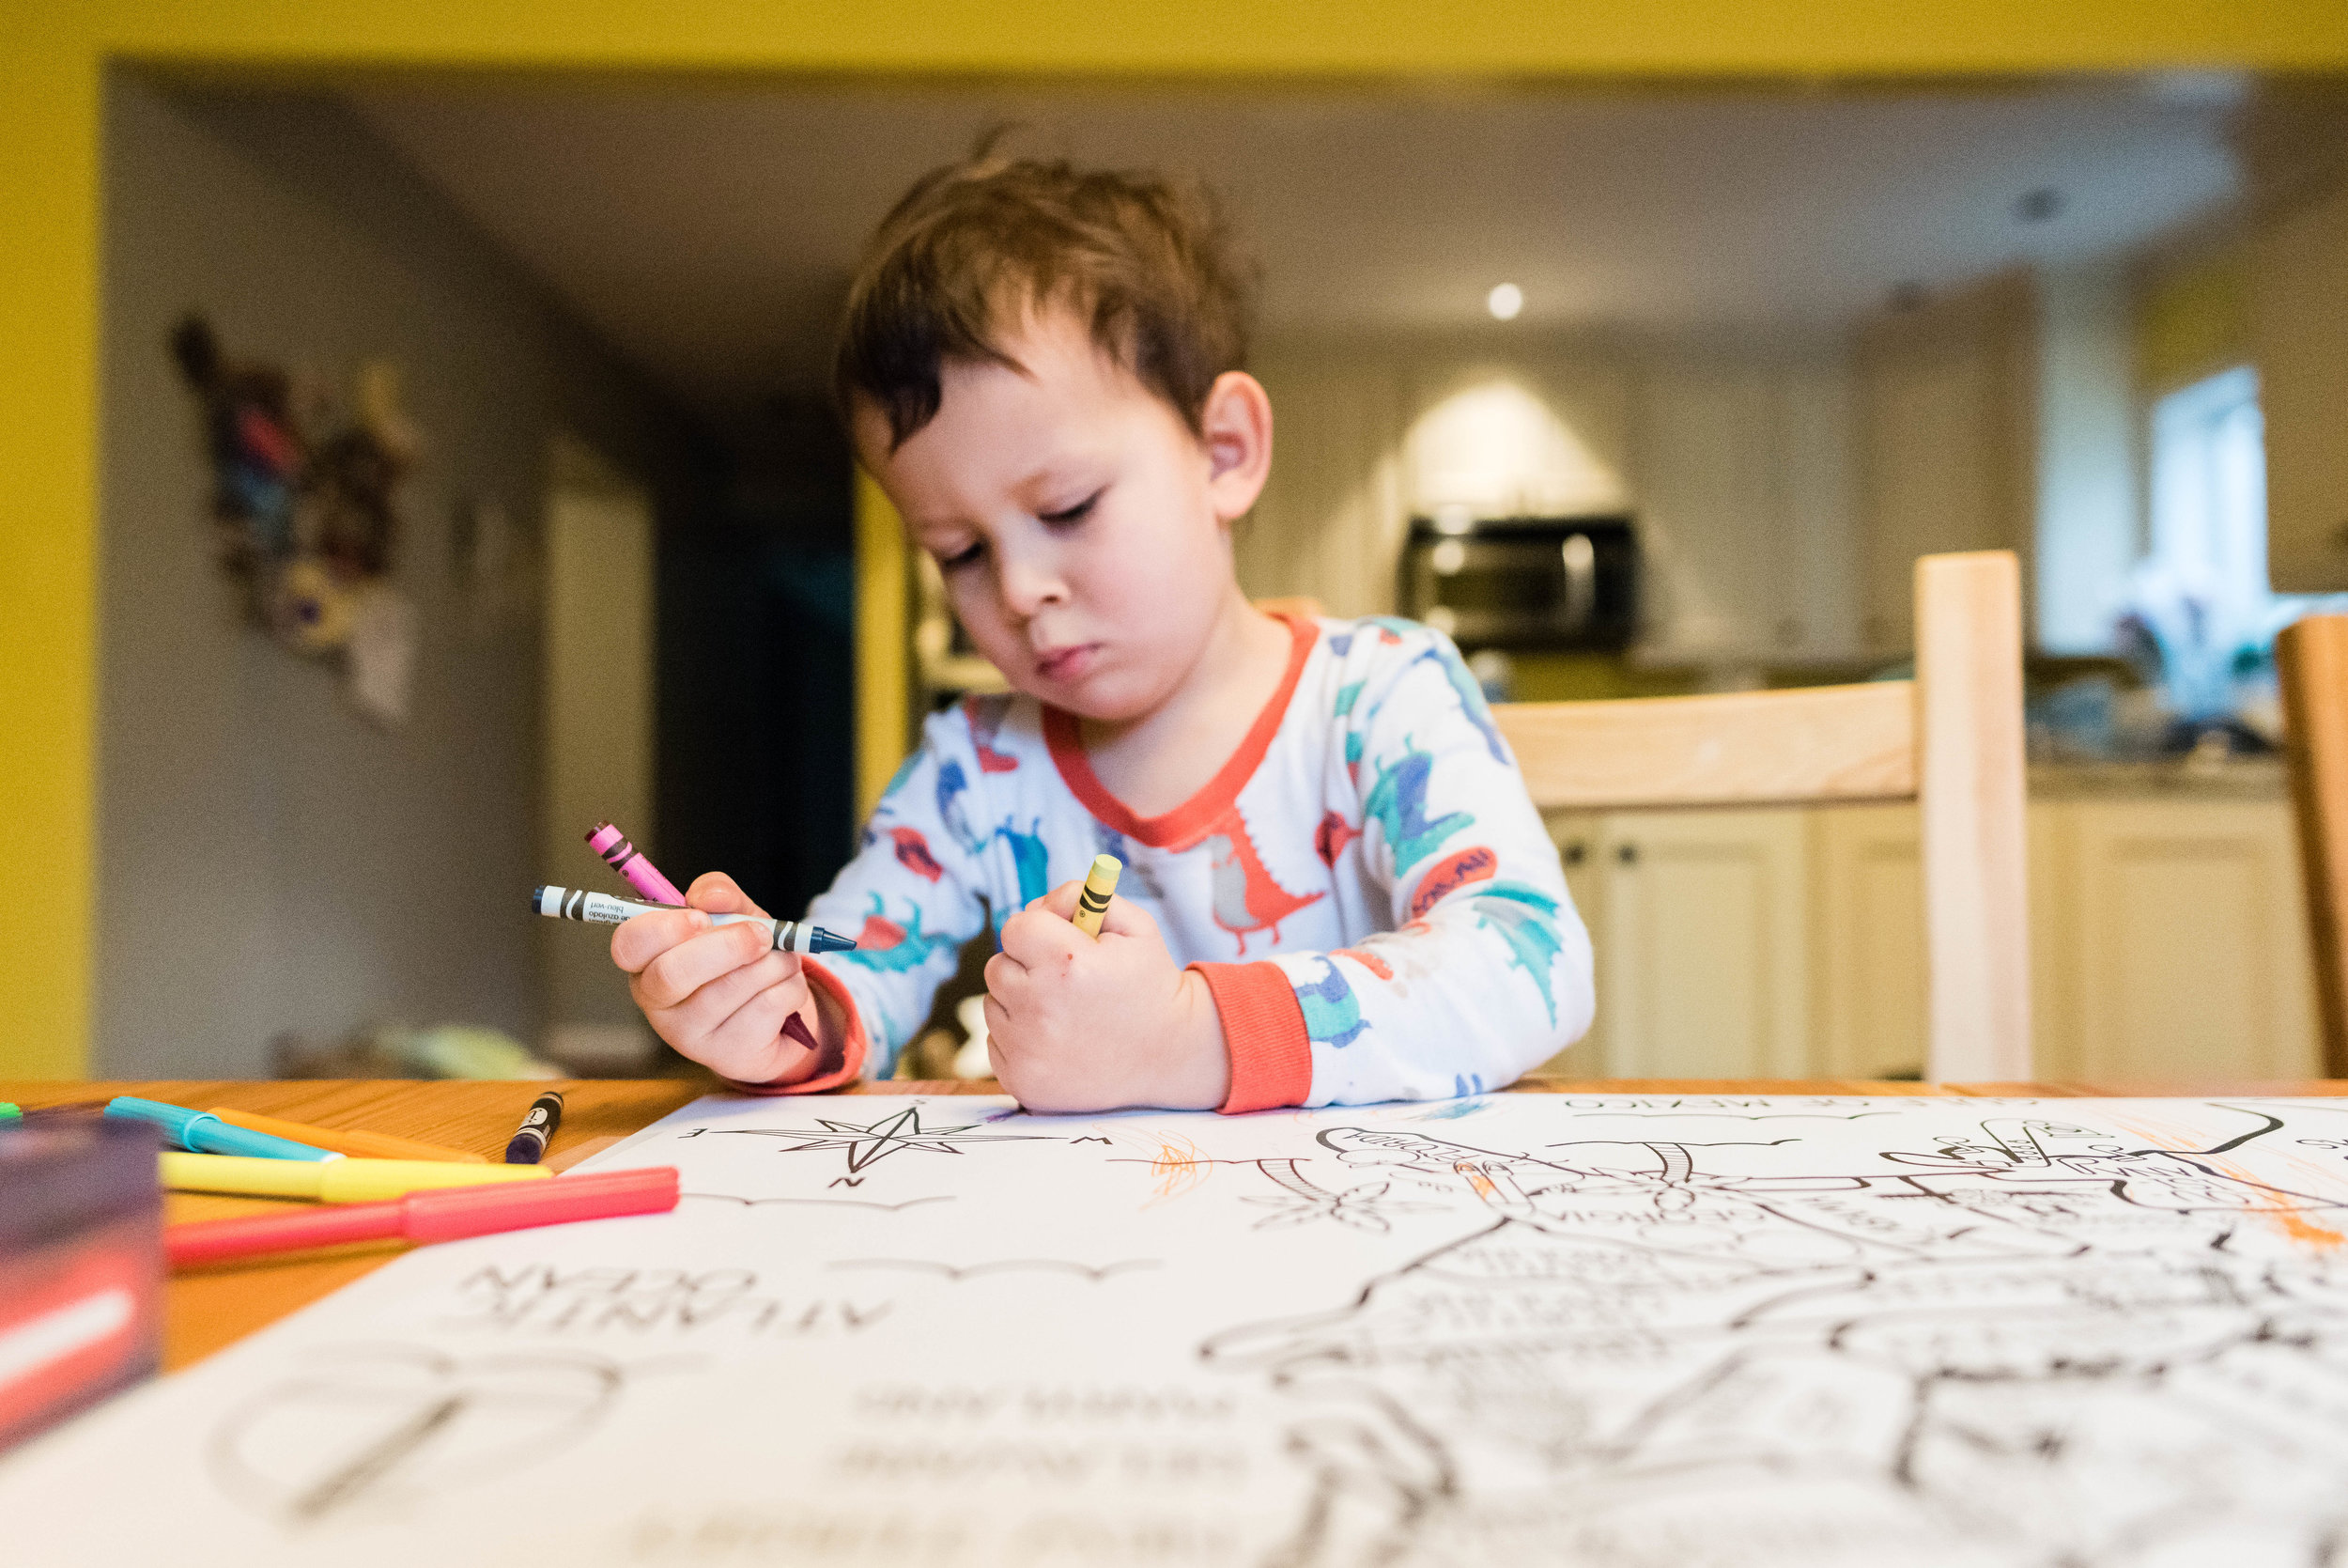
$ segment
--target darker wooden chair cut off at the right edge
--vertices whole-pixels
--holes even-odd
[[[2348,615],[2308,615],[2285,627],[2275,664],[2315,941],[2325,1077],[2348,1077]]]

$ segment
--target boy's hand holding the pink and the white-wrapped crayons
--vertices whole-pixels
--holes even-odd
[[[798,953],[777,953],[763,927],[709,925],[709,915],[765,915],[730,876],[709,871],[686,892],[688,908],[636,915],[610,934],[610,960],[662,1040],[744,1084],[812,1077],[843,1028],[826,1019]],[[824,1042],[810,1049],[784,1035]]]

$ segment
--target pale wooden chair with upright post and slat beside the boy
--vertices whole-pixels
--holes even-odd
[[[1914,681],[1514,702],[1493,716],[1543,810],[1916,800],[1925,1077],[2031,1077],[2022,577],[2010,552],[1916,561]]]

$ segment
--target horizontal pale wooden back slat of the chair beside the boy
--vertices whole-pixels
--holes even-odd
[[[1916,796],[1916,685],[1493,709],[1533,805],[1768,805]]]

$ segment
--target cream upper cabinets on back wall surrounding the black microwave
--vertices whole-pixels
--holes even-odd
[[[1653,662],[1768,664],[1857,653],[1850,357],[1526,343],[1273,343],[1259,373],[1277,455],[1235,530],[1256,599],[1331,615],[1395,606],[1411,516],[1639,519]]]

